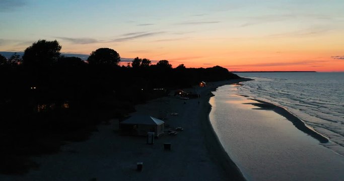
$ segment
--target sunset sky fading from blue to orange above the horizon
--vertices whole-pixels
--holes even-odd
[[[0,0],[0,51],[61,52],[230,71],[344,71],[343,0]]]

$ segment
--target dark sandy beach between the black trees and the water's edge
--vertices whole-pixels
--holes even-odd
[[[153,145],[147,144],[146,137],[121,136],[114,131],[118,121],[111,120],[99,125],[87,141],[68,143],[57,154],[33,157],[38,169],[25,175],[0,175],[0,180],[244,180],[210,124],[209,99],[216,87],[245,80],[195,87],[199,99],[185,101],[171,92],[137,105],[131,115],[164,115],[165,130],[184,128],[177,135],[156,138]],[[171,150],[164,150],[165,142],[171,143]],[[136,171],[137,162],[143,162],[142,171]]]

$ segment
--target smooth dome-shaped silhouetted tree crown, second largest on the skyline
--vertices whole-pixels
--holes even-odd
[[[110,48],[99,48],[93,51],[87,61],[91,65],[118,65],[119,54]]]

